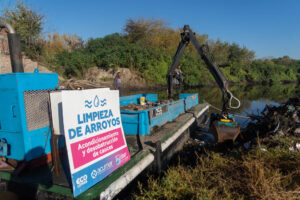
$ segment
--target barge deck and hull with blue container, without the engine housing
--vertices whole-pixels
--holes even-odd
[[[121,97],[120,105],[139,104],[141,97],[149,102],[158,100],[156,94],[139,94]],[[131,160],[76,198],[73,197],[64,159],[61,159],[60,168],[65,173],[61,177],[54,175],[51,164],[26,170],[19,176],[12,170],[0,171],[0,189],[31,193],[37,199],[112,199],[143,171],[160,172],[182,149],[190,131],[206,119],[208,109],[208,104],[198,104],[198,94],[180,94],[177,101],[146,110],[121,110]]]

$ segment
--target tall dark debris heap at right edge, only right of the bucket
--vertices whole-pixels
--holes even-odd
[[[248,124],[239,138],[245,149],[258,143],[274,147],[279,138],[295,138],[289,149],[300,151],[300,98],[290,98],[278,107],[266,105],[261,115],[249,117],[253,122]]]

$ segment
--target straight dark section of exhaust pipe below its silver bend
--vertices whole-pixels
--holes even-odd
[[[19,35],[16,33],[8,33],[8,45],[12,72],[24,72]]]

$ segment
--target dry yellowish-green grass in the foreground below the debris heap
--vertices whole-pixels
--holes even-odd
[[[300,199],[299,152],[258,146],[226,156],[195,155],[196,165],[179,163],[162,178],[139,184],[134,199]]]

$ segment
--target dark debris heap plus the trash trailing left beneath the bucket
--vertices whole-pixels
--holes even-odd
[[[208,127],[198,127],[193,133],[194,142],[212,150],[226,152],[231,148],[242,147],[249,150],[261,146],[261,150],[279,148],[284,141],[291,152],[300,152],[300,98],[290,98],[280,106],[266,105],[258,115],[248,115],[252,120],[241,130],[234,143],[216,143]]]

